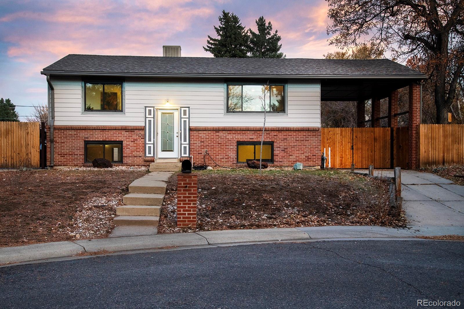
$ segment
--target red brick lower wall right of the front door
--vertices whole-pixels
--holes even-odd
[[[261,141],[262,127],[191,127],[190,154],[203,164],[205,150],[219,165],[237,165],[237,142]],[[265,142],[274,142],[274,165],[321,164],[321,129],[317,127],[268,127]],[[206,164],[214,165],[206,156]]]

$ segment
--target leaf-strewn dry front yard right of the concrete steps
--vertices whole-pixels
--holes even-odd
[[[400,212],[390,209],[385,183],[338,170],[257,173],[198,172],[196,230],[406,224]],[[158,233],[193,230],[176,227],[176,189],[176,177],[171,177]]]

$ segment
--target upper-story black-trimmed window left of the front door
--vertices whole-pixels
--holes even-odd
[[[84,82],[86,112],[122,111],[122,83]]]

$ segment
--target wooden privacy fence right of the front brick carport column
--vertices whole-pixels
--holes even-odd
[[[419,125],[420,167],[464,164],[464,125]]]

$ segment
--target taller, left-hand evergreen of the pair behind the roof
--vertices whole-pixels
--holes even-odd
[[[219,26],[214,26],[218,38],[208,35],[206,47],[214,57],[246,58],[248,52],[248,34],[240,19],[234,13],[222,10]]]

